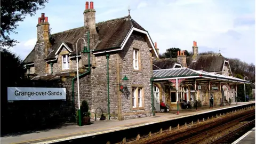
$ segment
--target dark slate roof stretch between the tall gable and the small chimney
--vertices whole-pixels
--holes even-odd
[[[178,63],[177,58],[166,58],[166,59],[154,59],[153,60],[153,70],[155,69],[169,69],[169,68],[173,68],[174,64]]]

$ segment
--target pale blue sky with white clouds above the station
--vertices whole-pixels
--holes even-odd
[[[51,34],[83,26],[85,2],[81,0],[49,1],[36,15],[19,22],[20,41],[11,51],[23,60],[36,44],[36,25],[41,13],[50,23]],[[192,51],[221,52],[226,58],[238,58],[255,65],[255,1],[254,0],[95,0],[96,22],[121,18],[130,14],[145,28],[160,53],[170,47]]]

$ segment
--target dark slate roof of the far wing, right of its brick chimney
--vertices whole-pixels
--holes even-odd
[[[189,58],[191,60],[191,58]],[[221,54],[199,55],[196,62],[190,62],[188,68],[207,72],[222,71],[225,58]],[[187,63],[188,64],[188,63]]]

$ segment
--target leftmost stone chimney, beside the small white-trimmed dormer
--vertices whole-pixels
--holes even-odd
[[[38,18],[36,27],[37,42],[35,46],[35,74],[47,74],[49,66],[46,63],[45,58],[49,54],[51,44],[49,41],[50,24],[48,22],[48,17],[45,17],[44,13]]]

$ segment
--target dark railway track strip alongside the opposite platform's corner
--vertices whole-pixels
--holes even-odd
[[[230,133],[228,133],[226,135],[223,135],[219,139],[211,142],[211,144],[234,142],[234,140],[238,139],[242,134],[244,134],[247,131],[251,130],[254,126],[255,126],[255,119],[253,119],[253,121],[251,121],[249,123],[246,123],[246,124],[238,127],[234,131],[232,131],[232,132],[230,132]]]

